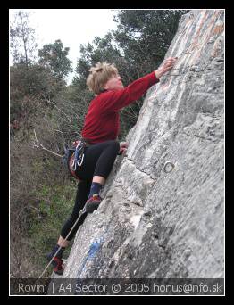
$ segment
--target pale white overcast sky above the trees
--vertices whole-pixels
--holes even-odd
[[[17,9],[9,10],[10,24],[14,20]],[[63,47],[70,47],[69,59],[75,69],[79,58],[79,45],[92,42],[94,37],[104,37],[111,29],[117,28],[113,16],[117,14],[112,9],[21,9],[31,12],[29,26],[36,29],[38,48],[54,43],[60,39]],[[10,55],[11,64],[11,55]],[[74,74],[67,78],[71,82]]]

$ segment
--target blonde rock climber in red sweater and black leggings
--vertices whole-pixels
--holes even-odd
[[[62,227],[57,244],[47,255],[47,259],[52,260],[56,251],[61,248],[52,261],[55,273],[63,274],[63,251],[87,216],[87,213],[81,215],[77,225],[65,239],[79,217],[79,211],[85,205],[88,212],[97,209],[102,201],[100,191],[113,168],[116,156],[128,147],[127,143],[120,144],[117,140],[120,129],[119,111],[137,101],[147,89],[159,82],[163,74],[172,69],[176,59],[169,57],[157,70],[138,78],[128,87],[123,86],[114,64],[97,62],[89,70],[87,85],[96,96],[89,104],[81,132],[86,146],[82,165],[77,167],[75,172],[80,179],[75,205],[70,218]]]

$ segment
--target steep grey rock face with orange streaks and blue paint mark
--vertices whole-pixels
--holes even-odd
[[[148,90],[63,277],[224,276],[223,29],[223,10],[182,17],[165,55],[178,62]]]

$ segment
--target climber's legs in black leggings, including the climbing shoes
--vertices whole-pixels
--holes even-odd
[[[79,211],[83,209],[84,205],[88,201],[90,195],[90,189],[92,190],[92,185],[94,183],[99,185],[104,185],[105,179],[110,174],[113,168],[113,162],[116,159],[118,152],[120,151],[120,144],[117,141],[106,141],[101,144],[94,144],[86,148],[85,160],[80,168],[77,169],[76,174],[81,178],[79,182],[78,190],[76,194],[75,205],[71,213],[70,218],[65,222],[61,230],[61,235],[58,239],[56,246],[53,251],[48,254],[48,260],[54,256],[55,252],[61,247],[61,250],[57,254],[58,257],[54,261],[54,269],[58,272],[63,272],[62,268],[62,255],[63,250],[68,246],[69,242],[76,234],[79,226],[84,222],[87,213],[83,214],[76,226],[72,229],[71,227],[75,224],[77,218],[79,217]],[[100,201],[90,202],[92,203],[88,212],[96,210]],[[95,207],[93,207],[95,206]],[[68,235],[69,234],[69,235]],[[68,235],[68,236],[67,236]],[[56,271],[55,271],[56,272]]]

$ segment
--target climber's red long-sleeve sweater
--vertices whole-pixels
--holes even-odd
[[[143,78],[138,78],[128,87],[108,90],[97,95],[89,104],[82,136],[92,144],[116,140],[120,131],[121,108],[137,101],[158,81],[155,72],[152,72]]]

